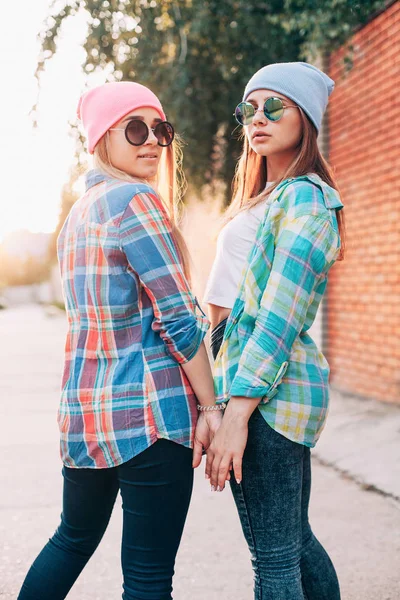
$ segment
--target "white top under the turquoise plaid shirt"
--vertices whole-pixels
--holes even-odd
[[[270,185],[272,184],[267,183],[266,187]],[[266,206],[267,201],[264,201],[243,210],[221,229],[203,298],[206,304],[233,307],[246,260],[256,240]]]

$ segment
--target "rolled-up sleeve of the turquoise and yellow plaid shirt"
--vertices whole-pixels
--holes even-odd
[[[230,396],[260,397],[266,402],[275,395],[293,342],[338,251],[339,237],[328,216],[304,215],[285,222]]]

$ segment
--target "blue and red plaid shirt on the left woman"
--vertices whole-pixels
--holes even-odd
[[[91,171],[57,246],[69,325],[64,464],[113,467],[159,438],[191,447],[196,398],[180,364],[208,322],[155,192]]]

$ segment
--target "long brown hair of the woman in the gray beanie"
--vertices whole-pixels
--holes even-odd
[[[299,152],[282,178],[275,181],[268,189],[265,189],[268,181],[267,159],[265,156],[260,156],[254,152],[247,136],[243,133],[243,152],[237,164],[233,180],[233,200],[226,211],[228,220],[232,219],[241,210],[255,206],[265,200],[282,181],[289,177],[300,177],[301,175],[315,173],[325,183],[338,191],[333,171],[318,148],[317,130],[301,109],[300,114],[302,138],[299,144]],[[336,218],[341,240],[338,260],[343,260],[345,250],[343,209],[336,210]]]

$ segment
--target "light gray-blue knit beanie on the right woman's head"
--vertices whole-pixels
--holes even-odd
[[[319,132],[328,98],[335,82],[322,71],[304,62],[274,63],[253,75],[244,90],[243,101],[255,90],[272,90],[296,102]]]

